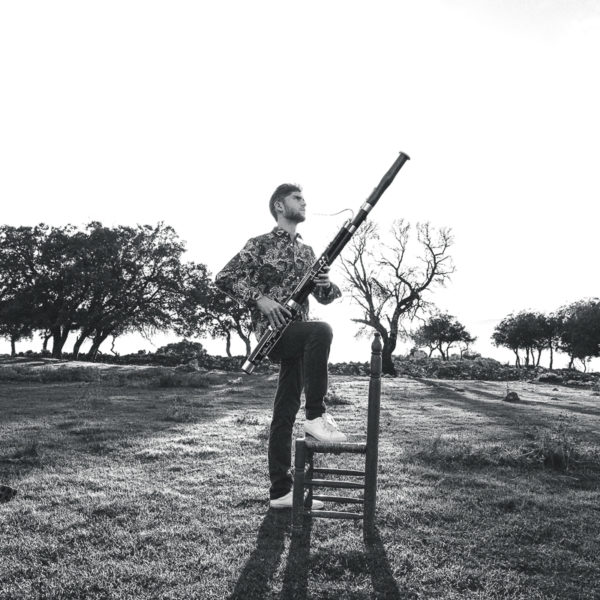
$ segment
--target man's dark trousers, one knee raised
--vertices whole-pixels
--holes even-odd
[[[291,489],[292,430],[304,389],[307,419],[325,412],[327,363],[333,332],[322,321],[295,321],[288,325],[269,358],[280,362],[273,420],[269,435],[269,477],[271,499]]]

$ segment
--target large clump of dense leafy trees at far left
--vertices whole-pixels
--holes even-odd
[[[2,332],[16,339],[39,330],[44,347],[50,337],[52,356],[59,358],[72,332],[78,332],[74,355],[91,339],[95,357],[109,336],[169,329],[188,282],[206,270],[182,262],[184,251],[175,231],[162,223],[2,227]]]

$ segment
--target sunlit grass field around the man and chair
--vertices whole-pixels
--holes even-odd
[[[290,511],[268,510],[274,376],[89,379],[0,382],[0,483],[18,489],[0,504],[2,600],[600,598],[589,390],[514,383],[508,404],[506,383],[384,379],[365,546],[324,519],[292,542]],[[368,379],[331,385],[362,439]]]

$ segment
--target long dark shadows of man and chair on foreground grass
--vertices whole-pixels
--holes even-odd
[[[302,532],[291,538],[283,586],[282,600],[306,600],[311,562],[315,565],[336,561],[329,552],[327,556],[317,551],[311,560],[310,538],[312,519],[305,516]],[[285,550],[286,538],[291,534],[291,511],[269,510],[258,531],[256,548],[246,562],[229,600],[253,600],[272,597],[273,578]],[[340,548],[340,555],[346,551]],[[406,600],[414,594],[401,592],[393,576],[379,531],[365,541],[364,552],[354,552],[353,564],[359,571],[369,574],[376,598]]]

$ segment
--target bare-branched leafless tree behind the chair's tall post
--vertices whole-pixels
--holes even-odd
[[[408,265],[410,224],[394,221],[391,244],[381,244],[377,226],[368,221],[353,236],[349,258],[342,258],[348,290],[362,315],[352,319],[372,327],[383,340],[383,372],[395,375],[392,353],[402,335],[401,321],[414,318],[428,306],[426,293],[444,285],[454,272],[448,254],[449,229],[435,230],[429,223],[416,227],[419,252]]]

